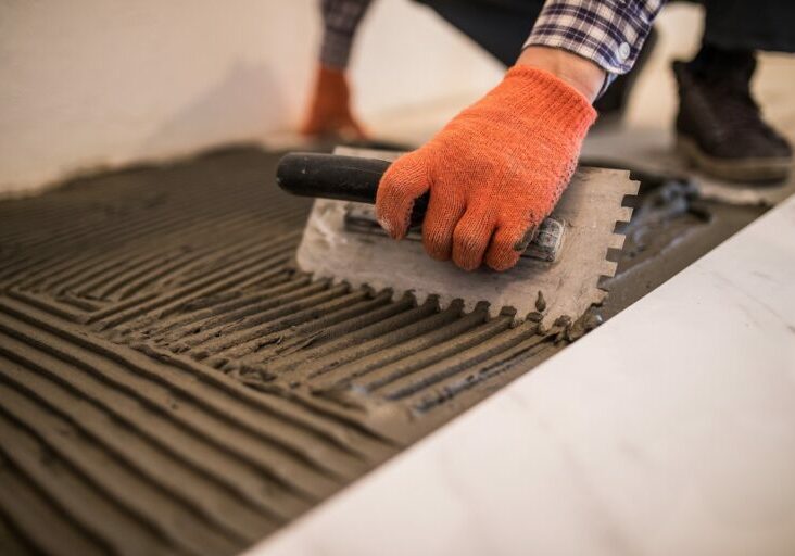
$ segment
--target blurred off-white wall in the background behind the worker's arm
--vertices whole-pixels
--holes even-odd
[[[0,2],[0,192],[294,128],[318,36],[315,0]],[[364,116],[500,75],[408,0],[377,1],[358,46]]]

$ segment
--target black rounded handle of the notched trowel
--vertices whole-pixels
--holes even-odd
[[[291,152],[279,161],[276,182],[294,195],[375,204],[378,182],[389,164],[377,159]],[[426,193],[414,203],[412,226],[422,222],[427,208]]]

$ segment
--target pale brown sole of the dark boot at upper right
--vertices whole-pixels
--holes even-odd
[[[689,137],[677,136],[677,153],[693,166],[728,181],[779,181],[792,172],[792,157],[727,160],[710,156]]]

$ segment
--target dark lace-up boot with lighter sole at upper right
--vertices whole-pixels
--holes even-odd
[[[750,94],[753,52],[704,47],[691,63],[674,62],[679,85],[677,150],[720,179],[774,181],[792,167],[792,149],[761,118]]]

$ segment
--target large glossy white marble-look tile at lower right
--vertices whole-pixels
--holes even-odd
[[[793,468],[795,198],[251,554],[785,556]]]

